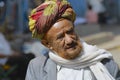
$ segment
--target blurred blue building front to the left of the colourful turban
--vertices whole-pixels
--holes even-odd
[[[42,0],[0,0],[0,27],[14,29],[14,33],[29,32],[28,14]]]

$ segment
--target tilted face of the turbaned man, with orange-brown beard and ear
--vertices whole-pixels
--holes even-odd
[[[67,19],[53,24],[46,36],[49,48],[62,58],[74,59],[81,52],[82,46],[74,33],[73,23]]]

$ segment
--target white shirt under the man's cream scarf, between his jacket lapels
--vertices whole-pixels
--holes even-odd
[[[87,67],[83,70],[69,69],[57,65],[57,71],[57,80],[96,80],[93,73]]]

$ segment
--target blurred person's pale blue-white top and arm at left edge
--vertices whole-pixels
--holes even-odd
[[[5,36],[0,32],[0,65],[6,64],[8,58],[18,57],[19,53],[11,49],[9,42]]]

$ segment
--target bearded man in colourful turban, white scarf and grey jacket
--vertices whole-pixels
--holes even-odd
[[[30,61],[26,80],[117,80],[118,66],[104,49],[79,40],[66,0],[46,0],[29,16],[32,36],[50,49]]]

